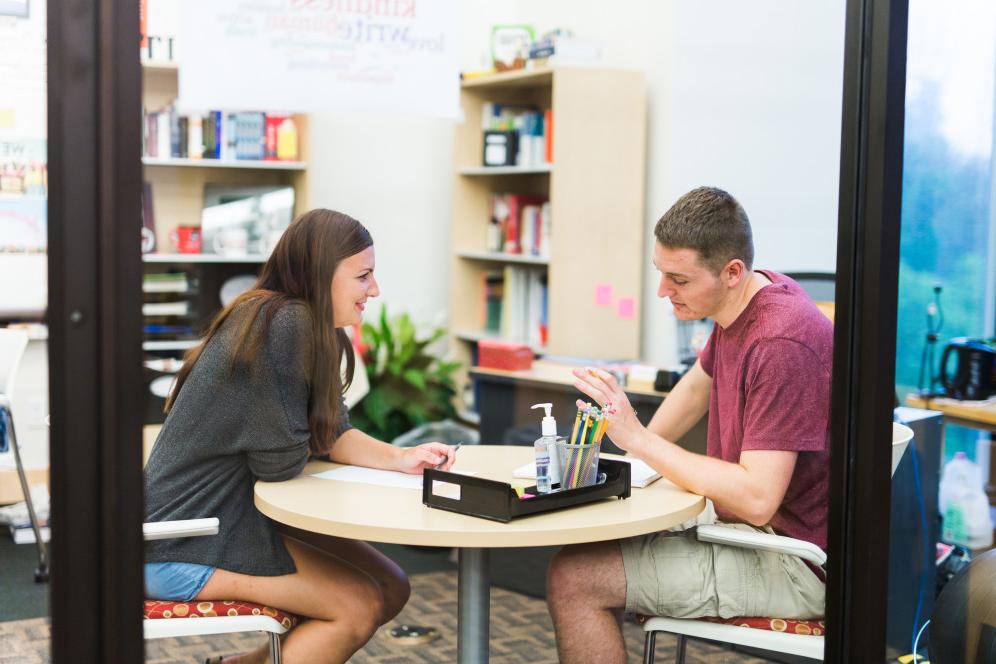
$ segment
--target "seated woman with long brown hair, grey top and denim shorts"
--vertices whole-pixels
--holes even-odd
[[[304,620],[284,638],[287,664],[346,661],[410,589],[369,544],[271,522],[253,506],[256,480],[290,479],[311,456],[414,474],[454,461],[441,443],[396,448],[349,425],[342,394],[354,358],[342,328],[379,294],[373,240],[358,221],[322,209],[298,217],[253,289],[188,353],[145,468],[148,521],[220,520],[214,537],[148,543],[147,595],[295,613]],[[266,659],[264,647],[224,661]]]

